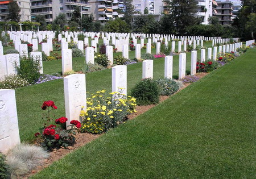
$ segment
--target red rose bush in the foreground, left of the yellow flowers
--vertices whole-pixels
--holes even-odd
[[[40,138],[42,147],[51,151],[53,148],[67,148],[75,144],[75,135],[79,132],[81,123],[78,120],[71,120],[68,129],[66,129],[67,118],[63,116],[53,120],[54,116],[51,115],[51,111],[57,109],[53,101],[44,101],[41,108],[47,110],[47,113],[43,116],[43,119],[46,119],[47,122],[44,123],[43,130],[37,132],[35,137]],[[53,121],[54,124],[52,124]]]

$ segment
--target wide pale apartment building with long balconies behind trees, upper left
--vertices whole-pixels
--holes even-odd
[[[31,19],[44,15],[47,23],[52,23],[60,13],[65,13],[67,19],[71,19],[75,7],[80,8],[81,15],[91,14],[90,2],[86,0],[30,0],[30,3]]]

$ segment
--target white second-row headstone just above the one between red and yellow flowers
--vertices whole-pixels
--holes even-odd
[[[73,70],[72,67],[72,50],[63,49],[61,50],[61,61],[62,61],[62,74]]]

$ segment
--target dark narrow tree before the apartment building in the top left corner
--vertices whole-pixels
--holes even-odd
[[[7,15],[6,20],[19,22],[20,20],[20,7],[16,1],[11,0],[8,5],[9,14]]]

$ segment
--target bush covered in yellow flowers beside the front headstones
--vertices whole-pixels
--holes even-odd
[[[110,93],[112,97],[106,97],[105,91],[97,91],[87,98],[87,109],[81,111],[81,132],[101,134],[109,128],[116,127],[127,120],[127,115],[136,113],[136,99],[122,94],[123,89]]]

